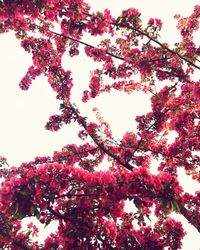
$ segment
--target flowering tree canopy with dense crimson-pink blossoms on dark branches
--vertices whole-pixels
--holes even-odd
[[[175,18],[181,39],[171,47],[159,41],[162,21],[144,24],[135,8],[113,17],[108,9],[93,13],[83,0],[0,1],[0,32],[14,31],[32,55],[20,88],[28,90],[44,75],[60,102],[45,128],[75,123],[82,141],[18,167],[1,157],[1,249],[181,249],[185,230],[172,212],[200,232],[200,191],[185,192],[177,178],[182,168],[200,181],[200,47],[194,42],[200,5],[189,17]],[[99,44],[86,42],[86,35],[99,37]],[[98,109],[94,122],[72,101],[73,72],[62,58],[79,57],[82,49],[98,62],[83,103],[115,91],[151,95],[151,111],[137,116],[137,129],[120,140]],[[172,131],[178,136],[169,142]],[[131,213],[124,210],[127,201]],[[157,221],[148,224],[152,213]],[[26,217],[44,225],[57,221],[57,231],[39,244],[33,222],[22,230]]]

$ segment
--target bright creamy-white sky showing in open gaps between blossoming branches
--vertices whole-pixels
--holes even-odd
[[[90,0],[87,2],[94,10],[109,8],[114,15],[120,14],[122,9],[135,7],[141,11],[145,22],[150,17],[161,18],[163,20],[161,41],[172,43],[179,39],[173,21],[174,14],[190,15],[193,6],[199,4],[199,1],[195,0]],[[59,113],[56,94],[44,77],[35,80],[28,91],[19,89],[18,83],[31,65],[31,55],[20,48],[20,42],[15,40],[13,34],[0,35],[0,55],[0,155],[7,157],[10,165],[17,166],[24,161],[32,160],[37,155],[52,155],[54,150],[59,150],[68,143],[78,142],[76,125],[65,126],[56,133],[44,129],[48,117]],[[80,64],[83,60],[84,63]],[[85,57],[83,60],[78,57],[70,61],[68,57],[63,59],[65,68],[71,68],[74,72],[76,91],[73,93],[77,104],[80,103],[84,85],[88,83],[88,70],[94,65]],[[123,93],[102,95],[95,101],[81,106],[83,115],[89,116],[91,121],[94,119],[91,111],[94,106],[97,106],[105,120],[110,122],[114,135],[119,136],[125,131],[134,130],[134,116],[146,113],[149,110],[149,101],[142,94],[134,98],[132,95],[127,96]],[[199,188],[199,184],[191,182],[190,178],[184,178],[188,191],[194,192]],[[176,217],[178,218],[177,215]],[[198,250],[200,235],[185,220],[183,222],[188,232],[183,249]]]

